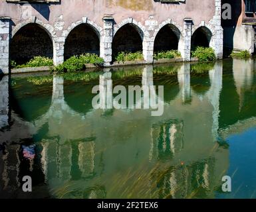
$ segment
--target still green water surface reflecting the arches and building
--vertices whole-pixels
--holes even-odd
[[[255,198],[255,68],[223,60],[3,77],[0,197]],[[164,85],[164,114],[93,109],[92,87],[106,81]]]

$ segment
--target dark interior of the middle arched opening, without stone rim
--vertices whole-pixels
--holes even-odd
[[[142,52],[143,32],[132,24],[122,26],[114,35],[112,42],[112,61],[119,52]]]

